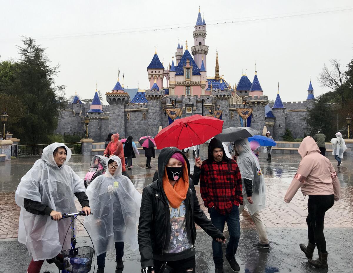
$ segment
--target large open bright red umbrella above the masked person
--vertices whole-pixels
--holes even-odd
[[[162,129],[156,136],[157,149],[177,147],[184,149],[205,143],[208,139],[222,132],[223,120],[214,117],[193,115],[176,119]]]

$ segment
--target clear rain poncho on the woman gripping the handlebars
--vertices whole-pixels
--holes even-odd
[[[53,152],[64,146],[66,161],[60,167]],[[67,166],[71,150],[63,143],[53,143],[43,149],[42,158],[23,176],[17,187],[15,200],[21,207],[18,224],[18,241],[27,246],[33,260],[52,259],[64,249],[70,248],[71,236],[64,237],[71,224],[70,219],[53,221],[48,215],[36,215],[25,210],[24,198],[46,204],[61,213],[76,212],[74,193],[84,192],[83,180]]]

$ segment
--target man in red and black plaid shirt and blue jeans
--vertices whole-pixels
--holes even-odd
[[[199,161],[195,165],[200,167]],[[240,237],[239,205],[243,204],[243,188],[237,162],[226,157],[222,142],[213,138],[208,146],[208,159],[200,168],[201,197],[214,226],[223,231],[225,223],[228,224],[226,259],[233,271],[238,272],[240,267],[234,256]],[[213,240],[212,248],[216,273],[223,273],[222,243]]]

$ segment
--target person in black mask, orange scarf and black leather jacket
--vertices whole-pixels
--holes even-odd
[[[196,272],[195,223],[215,241],[225,242],[200,208],[189,168],[179,149],[163,148],[158,179],[143,189],[138,225],[143,273]]]

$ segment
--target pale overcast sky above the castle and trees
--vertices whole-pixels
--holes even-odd
[[[217,3],[215,5],[215,3]],[[269,99],[277,82],[282,101],[330,91],[317,77],[324,63],[353,58],[353,2],[298,1],[7,1],[0,0],[0,61],[17,60],[20,36],[36,39],[52,65],[59,64],[57,85],[66,96],[93,98],[114,87],[118,69],[125,88],[148,89],[147,66],[155,52],[164,68],[178,45],[188,40],[201,6],[207,24],[207,76],[220,74],[233,86],[242,73],[252,81],[256,70]],[[104,104],[107,104],[106,102]]]

